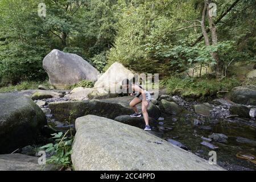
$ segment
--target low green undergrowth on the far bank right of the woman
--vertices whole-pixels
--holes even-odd
[[[216,96],[222,91],[229,91],[235,86],[241,85],[236,78],[224,78],[217,81],[214,78],[180,78],[172,76],[160,82],[160,85],[166,86],[169,94],[179,94],[182,97],[204,98]]]

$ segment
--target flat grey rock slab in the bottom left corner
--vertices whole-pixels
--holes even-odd
[[[52,164],[39,165],[38,158],[23,154],[0,155],[0,171],[54,171]]]

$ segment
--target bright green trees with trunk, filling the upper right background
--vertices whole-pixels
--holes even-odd
[[[253,51],[247,53],[238,48],[242,39],[235,39],[236,36],[227,38],[221,31],[226,22],[230,22],[226,34],[233,34],[233,30],[242,24],[245,26],[244,22],[232,24],[237,21],[232,14],[238,11],[242,16],[245,9],[254,12],[253,1],[247,1],[247,5],[239,0],[121,2],[121,20],[118,22],[120,24],[117,23],[118,35],[114,47],[110,49],[109,63],[119,60],[137,71],[157,71],[166,76],[170,72],[182,72],[194,64],[212,65],[216,76],[222,78],[230,61],[254,57]],[[208,15],[210,2],[217,5],[217,17]],[[252,33],[255,16],[251,16],[251,25],[246,26],[250,27]],[[240,35],[243,34],[240,32]],[[253,34],[249,34],[249,37],[255,38]],[[154,69],[154,65],[160,69]]]

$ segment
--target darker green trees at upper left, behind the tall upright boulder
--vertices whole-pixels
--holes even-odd
[[[46,17],[39,17],[38,4],[41,2],[0,2],[2,84],[45,80],[47,74],[42,61],[53,48],[90,60],[112,46],[116,1],[46,0]],[[103,65],[99,67],[102,69]]]

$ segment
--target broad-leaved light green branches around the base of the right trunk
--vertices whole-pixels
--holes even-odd
[[[209,67],[216,65],[216,60],[212,58],[210,52],[218,51],[220,60],[223,60],[224,65],[233,61],[246,59],[245,53],[238,52],[235,43],[232,41],[218,42],[216,45],[205,46],[197,44],[194,47],[181,43],[179,46],[158,46],[156,56],[165,57],[170,60],[170,68],[172,71],[183,72],[188,68],[194,68],[195,65]],[[234,61],[235,62],[235,61]]]

